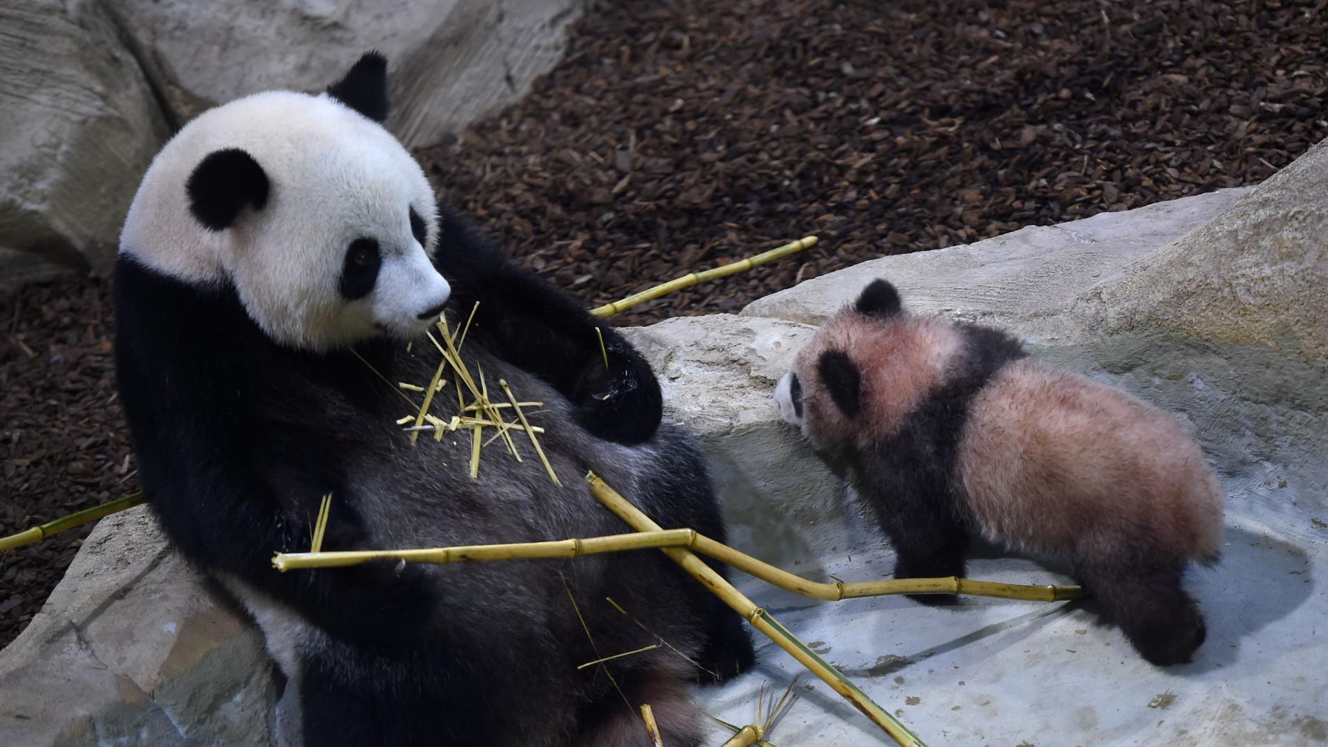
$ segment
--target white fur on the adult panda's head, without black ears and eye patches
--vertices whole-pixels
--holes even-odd
[[[208,231],[189,210],[186,183],[227,147],[259,163],[268,199]],[[424,247],[410,234],[410,207],[429,224]],[[429,260],[434,215],[424,171],[377,122],[327,94],[268,92],[201,114],[166,143],[129,208],[120,251],[193,285],[234,283],[272,340],[328,350],[382,332],[416,334],[433,321],[417,317],[450,293]],[[347,301],[337,279],[360,238],[377,240],[382,267],[368,296]]]

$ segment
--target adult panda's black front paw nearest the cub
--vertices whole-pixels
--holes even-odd
[[[606,346],[608,366],[596,357],[580,373],[574,389],[576,422],[606,441],[635,444],[659,429],[664,398],[649,364],[631,345]]]

